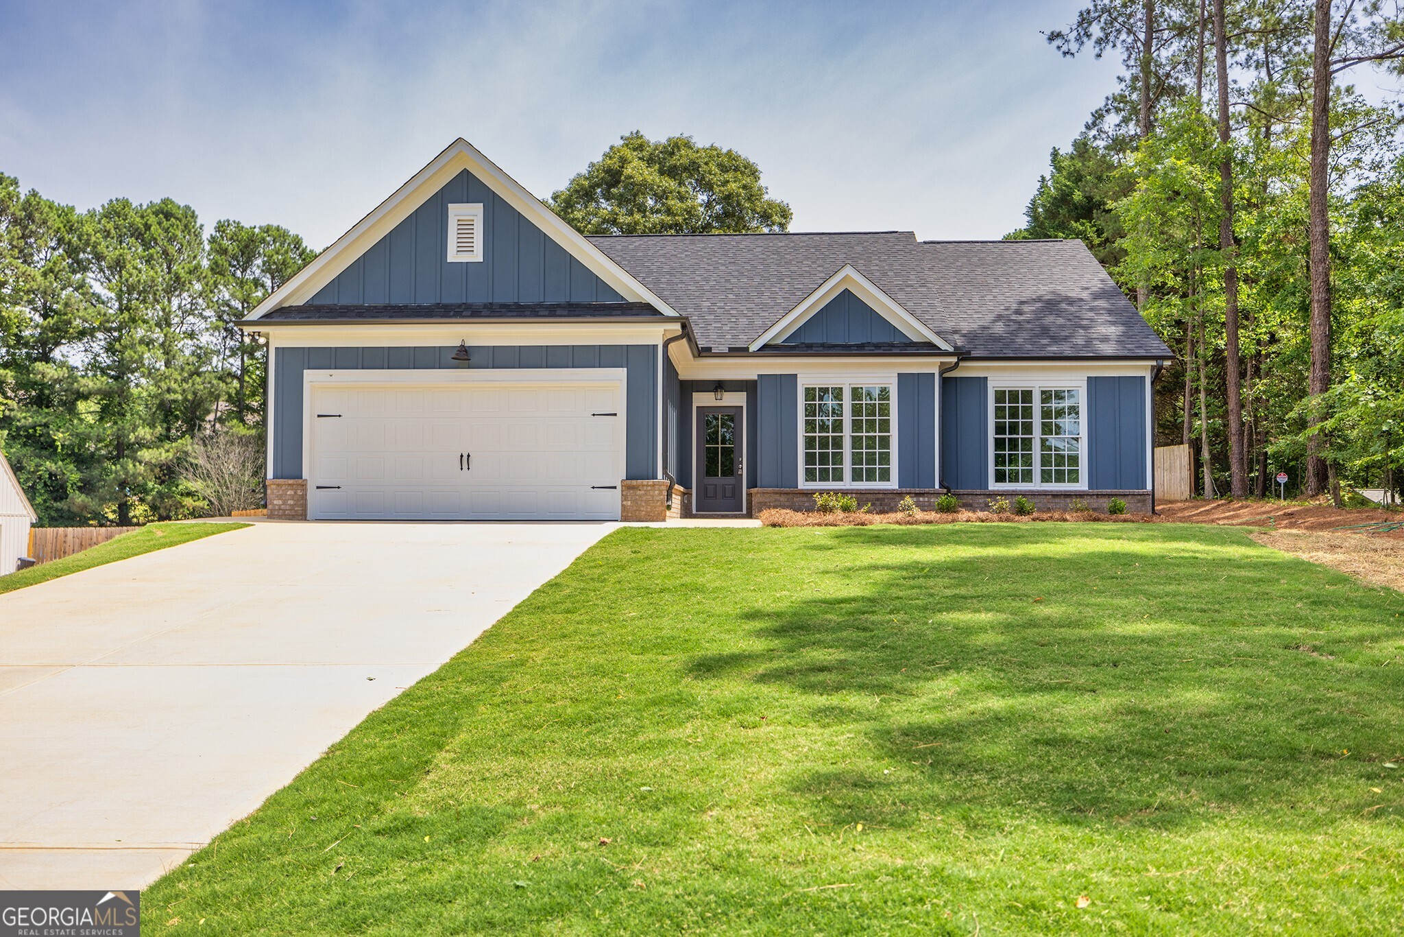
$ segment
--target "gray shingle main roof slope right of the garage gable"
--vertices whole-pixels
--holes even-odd
[[[852,264],[970,355],[1171,355],[1077,240],[918,242],[911,232],[590,240],[688,316],[702,347],[748,346]]]

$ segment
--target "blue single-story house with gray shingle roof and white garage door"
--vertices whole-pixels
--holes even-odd
[[[241,326],[298,518],[1144,511],[1171,358],[1075,240],[585,237],[462,139]]]

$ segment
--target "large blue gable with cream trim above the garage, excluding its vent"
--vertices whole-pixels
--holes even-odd
[[[451,205],[482,205],[480,260],[449,257]],[[459,302],[643,302],[677,315],[459,139],[274,291],[249,319],[303,303]]]

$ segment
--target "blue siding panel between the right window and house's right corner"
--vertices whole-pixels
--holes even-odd
[[[1144,490],[1146,378],[1088,378],[1084,419],[1088,487]]]

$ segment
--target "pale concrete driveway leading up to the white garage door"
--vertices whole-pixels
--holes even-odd
[[[0,596],[0,889],[142,888],[614,524],[278,524]]]

